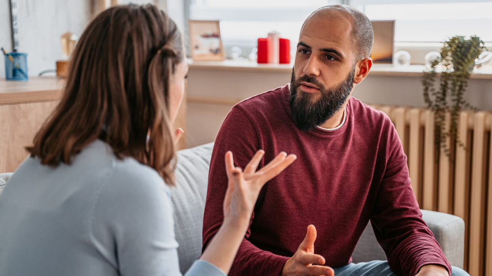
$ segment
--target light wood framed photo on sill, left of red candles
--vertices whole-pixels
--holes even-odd
[[[189,48],[193,60],[224,60],[218,21],[189,20]]]

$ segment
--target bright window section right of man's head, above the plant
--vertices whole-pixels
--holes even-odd
[[[452,0],[396,4],[354,0],[370,20],[395,20],[396,42],[442,42],[455,35],[478,35],[492,42],[492,2]],[[398,3],[403,2],[403,3]],[[418,2],[418,1],[416,1]]]

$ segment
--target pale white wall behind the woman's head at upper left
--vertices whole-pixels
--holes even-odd
[[[17,0],[19,52],[28,53],[28,73],[37,76],[46,69],[55,69],[62,58],[60,36],[71,31],[79,37],[92,16],[91,0]],[[183,0],[120,0],[126,3],[157,3],[168,10],[171,18],[183,29]],[[181,7],[181,8],[180,8]],[[0,1],[0,46],[12,51],[10,0]],[[4,58],[0,58],[0,78],[5,78]],[[53,73],[51,75],[54,75]]]

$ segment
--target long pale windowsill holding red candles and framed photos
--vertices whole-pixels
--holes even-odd
[[[249,60],[224,61],[193,61],[188,59],[190,69],[224,70],[224,71],[255,71],[255,72],[292,72],[293,64],[258,64]],[[392,64],[374,64],[369,76],[384,77],[422,77],[424,65],[396,66]],[[475,69],[470,79],[492,80],[492,68],[489,70]]]

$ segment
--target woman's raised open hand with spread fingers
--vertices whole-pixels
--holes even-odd
[[[294,154],[279,153],[270,163],[257,170],[265,152],[259,150],[246,165],[244,172],[234,166],[232,152],[225,154],[225,169],[229,183],[224,198],[224,223],[249,225],[261,188],[296,160]],[[247,227],[247,226],[246,226]]]

